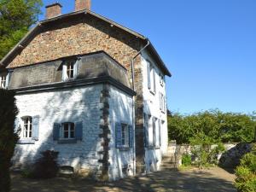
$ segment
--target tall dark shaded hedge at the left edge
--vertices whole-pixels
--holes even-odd
[[[0,89],[0,192],[8,192],[10,189],[9,167],[18,141],[14,132],[17,113],[15,92]]]

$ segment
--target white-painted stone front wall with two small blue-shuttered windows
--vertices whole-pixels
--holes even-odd
[[[15,164],[29,164],[39,157],[39,152],[55,150],[60,152],[61,166],[93,169],[96,171],[102,150],[99,129],[102,107],[100,96],[102,84],[51,90],[26,95],[18,95],[19,118],[39,115],[39,140],[35,144],[18,144],[15,148]],[[83,140],[77,143],[60,144],[53,141],[53,125],[62,122],[83,121]]]

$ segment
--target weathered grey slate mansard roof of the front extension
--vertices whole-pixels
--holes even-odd
[[[78,60],[77,78],[62,82],[62,65],[65,61],[73,59]],[[37,65],[14,68],[11,73],[9,90],[18,92],[49,90],[50,88],[63,88],[63,85],[68,86],[68,84],[102,84],[108,81],[129,94],[135,94],[130,88],[131,85],[125,67],[104,51],[100,51],[89,55],[73,55],[55,61],[38,63]]]

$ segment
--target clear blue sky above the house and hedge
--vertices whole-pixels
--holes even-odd
[[[59,0],[64,14],[73,2]],[[92,0],[92,10],[150,38],[173,74],[172,112],[256,110],[255,0]]]

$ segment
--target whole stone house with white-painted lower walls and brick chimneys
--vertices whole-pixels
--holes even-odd
[[[116,180],[156,171],[168,145],[166,82],[148,38],[90,10],[90,0],[46,6],[0,63],[2,88],[16,91],[20,141],[14,165],[44,150],[61,166]]]

